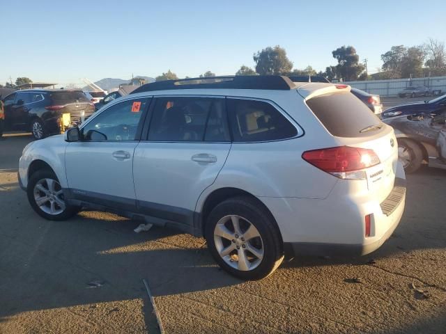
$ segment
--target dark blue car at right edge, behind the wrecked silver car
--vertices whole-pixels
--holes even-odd
[[[446,109],[446,94],[436,97],[430,101],[412,102],[401,104],[400,106],[392,106],[385,110],[382,115],[383,119],[403,115],[433,114],[438,115]]]

